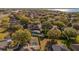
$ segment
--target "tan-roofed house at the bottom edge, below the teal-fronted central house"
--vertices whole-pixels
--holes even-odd
[[[20,49],[21,51],[38,51],[40,50],[39,40],[37,37],[32,37],[29,43]]]

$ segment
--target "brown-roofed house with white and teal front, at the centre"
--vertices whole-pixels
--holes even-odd
[[[33,36],[44,37],[41,24],[29,24],[28,29],[31,30]]]

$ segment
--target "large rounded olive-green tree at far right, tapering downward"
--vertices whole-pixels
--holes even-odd
[[[65,44],[67,45],[68,48],[71,49],[71,44],[75,41],[77,32],[74,28],[68,27],[65,28],[64,31],[62,32],[63,34],[63,39],[65,40]]]

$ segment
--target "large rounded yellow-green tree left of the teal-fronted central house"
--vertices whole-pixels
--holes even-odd
[[[31,39],[31,33],[27,29],[20,29],[12,34],[12,39],[19,41],[19,43],[23,45]]]

